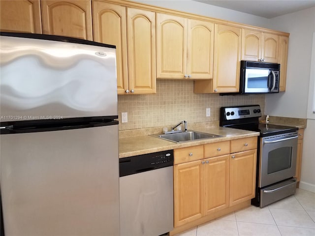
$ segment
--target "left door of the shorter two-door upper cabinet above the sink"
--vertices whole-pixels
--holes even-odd
[[[157,13],[157,78],[187,74],[187,19]]]

